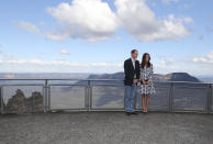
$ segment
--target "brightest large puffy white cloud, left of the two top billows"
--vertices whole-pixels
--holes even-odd
[[[47,12],[65,26],[64,31],[55,32],[57,38],[61,33],[66,35],[61,36],[61,40],[68,36],[86,38],[92,42],[107,40],[113,36],[117,26],[115,13],[107,2],[101,0],[64,2],[57,7],[47,8]]]

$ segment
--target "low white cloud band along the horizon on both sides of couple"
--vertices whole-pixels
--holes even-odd
[[[210,75],[213,73],[213,51],[205,56],[194,57],[194,62],[173,59],[169,56],[158,57],[154,64],[156,74],[187,71],[193,75]],[[205,65],[204,65],[205,64]],[[0,58],[0,71],[15,73],[116,73],[123,71],[123,63],[78,63],[66,59],[43,60],[38,58],[25,59],[11,55]],[[202,68],[201,68],[202,67]]]

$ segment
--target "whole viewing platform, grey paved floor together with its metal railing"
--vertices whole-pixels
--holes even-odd
[[[123,80],[0,81],[0,144],[213,144],[212,84],[155,81],[147,114],[138,87],[125,115]]]

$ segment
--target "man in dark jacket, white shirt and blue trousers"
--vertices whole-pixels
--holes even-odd
[[[124,107],[127,115],[137,114],[135,112],[135,96],[137,82],[139,80],[139,62],[136,59],[138,55],[137,49],[131,52],[131,58],[124,62],[124,73],[125,73],[125,97]]]

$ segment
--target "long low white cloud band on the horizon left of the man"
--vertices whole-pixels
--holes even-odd
[[[0,71],[29,73],[115,73],[123,70],[123,63],[75,63],[68,60],[24,59],[4,56]]]

